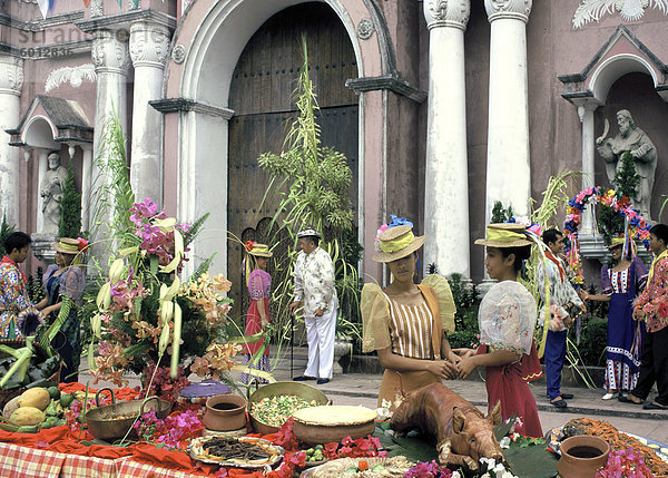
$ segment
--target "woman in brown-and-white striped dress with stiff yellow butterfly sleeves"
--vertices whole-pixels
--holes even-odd
[[[418,250],[426,236],[415,237],[412,224],[393,216],[379,236],[375,262],[387,264],[392,282],[382,290],[365,284],[362,290],[363,351],[377,351],[385,369],[379,392],[397,406],[397,398],[441,379],[455,378],[459,358],[446,333],[454,331],[454,301],[445,277],[430,275],[414,283]],[[397,397],[399,396],[399,397]]]

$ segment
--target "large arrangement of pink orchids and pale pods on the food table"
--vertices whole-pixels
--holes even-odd
[[[129,222],[131,234],[115,237],[119,248],[97,294],[89,365],[96,382],[117,386],[125,371],[150,374],[148,388],[173,401],[190,372],[204,377],[234,365],[240,347],[226,342],[225,330],[230,283],[204,271],[183,284],[177,275],[203,220],[178,224],[146,198],[132,204]]]

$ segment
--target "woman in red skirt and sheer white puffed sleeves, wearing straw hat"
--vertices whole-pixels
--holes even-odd
[[[465,379],[478,367],[484,367],[489,409],[500,401],[504,420],[518,416],[514,431],[542,437],[536,399],[527,383],[541,375],[533,343],[536,301],[518,282],[532,243],[521,224],[490,224],[487,238],[478,240],[475,244],[487,246],[484,265],[488,275],[499,282],[480,304],[479,349],[455,350],[462,355],[458,364],[459,378]]]

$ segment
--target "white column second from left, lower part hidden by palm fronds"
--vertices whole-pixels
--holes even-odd
[[[96,30],[92,32],[92,64],[97,74],[97,98],[95,110],[94,162],[107,158],[102,144],[108,134],[108,123],[112,117],[118,118],[122,131],[127,135],[127,74],[130,67],[128,55],[128,38],[125,30]],[[127,146],[126,146],[127,148]],[[92,196],[104,192],[112,178],[94,164]],[[99,197],[91,197],[90,204],[100,204]],[[111,213],[111,211],[108,211]],[[90,232],[92,242],[100,241],[111,217],[99,211],[91,211]],[[109,244],[94,246],[101,264],[106,264]]]

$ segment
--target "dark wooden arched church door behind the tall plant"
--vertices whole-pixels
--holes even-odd
[[[353,47],[347,33],[325,3],[302,3],[267,20],[242,52],[229,92],[228,230],[238,238],[268,242],[267,217],[277,211],[277,201],[263,197],[269,177],[257,158],[266,152],[281,153],[287,121],[296,116],[293,91],[302,67],[302,37],[306,36],[311,79],[321,107],[321,140],[343,153],[353,170],[350,197],[357,207],[357,97],[345,81],[357,77]],[[262,207],[261,207],[262,204]],[[230,296],[236,314],[245,314],[247,291],[240,264],[242,244],[228,241]],[[285,247],[281,248],[286,254]],[[281,261],[282,257],[276,257]],[[238,315],[237,315],[238,316]]]

